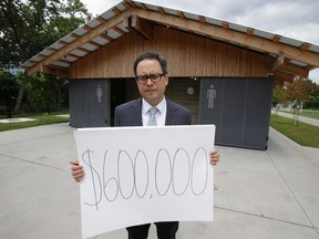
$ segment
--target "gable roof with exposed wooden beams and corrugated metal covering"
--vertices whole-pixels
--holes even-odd
[[[296,75],[308,77],[309,70],[319,67],[319,45],[214,18],[130,0],[120,2],[69,33],[19,67],[29,74],[48,72],[68,75],[72,63],[131,31],[151,39],[152,24],[269,54],[274,58],[271,72],[281,82],[294,81]]]

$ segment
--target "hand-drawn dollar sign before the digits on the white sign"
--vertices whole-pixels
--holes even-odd
[[[101,178],[100,178],[99,173],[92,166],[92,162],[91,162],[91,154],[92,153],[94,153],[94,152],[88,149],[82,154],[82,160],[90,167],[92,185],[93,185],[93,194],[94,194],[94,199],[95,199],[95,201],[93,204],[89,204],[86,201],[85,201],[85,204],[89,206],[95,206],[96,210],[97,210],[97,205],[100,204],[100,201],[102,199],[102,183],[101,183]],[[100,184],[100,188],[99,187],[96,188],[95,177],[96,177],[96,181]],[[99,189],[100,189],[100,195],[97,197],[97,190]]]

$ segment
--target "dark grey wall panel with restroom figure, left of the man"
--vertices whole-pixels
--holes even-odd
[[[107,126],[107,80],[70,81],[71,126]]]

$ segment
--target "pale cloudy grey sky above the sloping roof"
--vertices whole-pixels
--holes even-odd
[[[81,0],[93,17],[122,0]],[[319,45],[319,1],[313,0],[141,0]],[[319,83],[319,69],[309,73]]]

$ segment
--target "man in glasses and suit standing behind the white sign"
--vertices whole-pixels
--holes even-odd
[[[191,112],[165,98],[168,85],[166,61],[157,53],[146,52],[134,62],[134,73],[141,98],[115,108],[115,126],[189,125]],[[154,111],[153,113],[151,111]],[[217,150],[210,153],[210,164],[219,160]],[[76,181],[84,177],[79,162],[71,162],[72,176]],[[155,222],[158,239],[175,239],[178,221]],[[146,239],[151,224],[128,227],[128,239]]]

